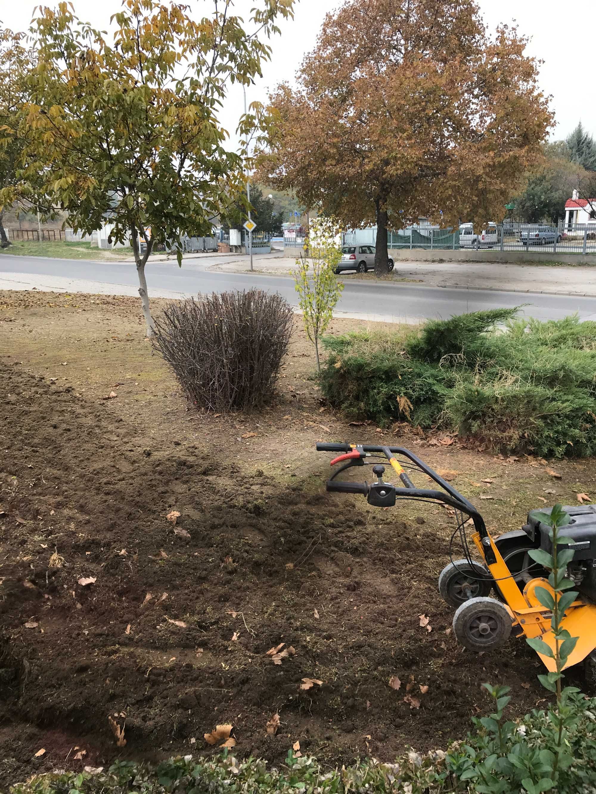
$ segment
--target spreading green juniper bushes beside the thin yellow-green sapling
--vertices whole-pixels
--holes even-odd
[[[596,322],[461,314],[325,337],[323,393],[350,418],[459,430],[503,452],[596,454]]]

